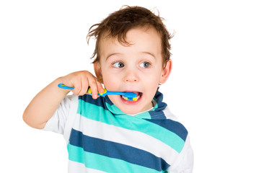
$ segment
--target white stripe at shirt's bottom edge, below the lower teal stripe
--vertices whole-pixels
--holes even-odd
[[[69,161],[69,172],[71,173],[106,173],[96,169],[90,169],[76,161]]]

